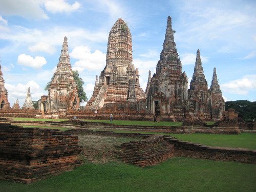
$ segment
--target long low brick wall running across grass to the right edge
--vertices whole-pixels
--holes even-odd
[[[164,138],[170,144],[174,145],[175,156],[256,164],[256,150],[205,146],[188,141],[181,141],[174,137],[165,136]]]

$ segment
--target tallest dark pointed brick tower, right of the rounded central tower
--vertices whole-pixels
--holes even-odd
[[[163,50],[147,93],[146,113],[182,119],[184,101],[187,98],[187,76],[185,72],[182,73],[181,61],[174,42],[172,18],[168,16]]]

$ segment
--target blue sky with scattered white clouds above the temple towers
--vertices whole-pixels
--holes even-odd
[[[95,77],[105,67],[109,32],[118,18],[132,33],[133,63],[145,90],[170,15],[189,83],[200,49],[208,87],[216,67],[225,101],[255,101],[255,10],[254,0],[1,0],[0,59],[8,100],[12,106],[18,98],[22,106],[29,87],[32,100],[48,94],[44,88],[55,72],[65,36],[72,69],[80,72],[90,98]]]

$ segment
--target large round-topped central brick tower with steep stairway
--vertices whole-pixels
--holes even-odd
[[[106,66],[86,109],[98,110],[105,103],[137,102],[146,97],[139,84],[139,71],[133,63],[132,35],[127,24],[119,18],[109,33]]]

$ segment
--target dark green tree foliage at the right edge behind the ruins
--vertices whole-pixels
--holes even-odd
[[[225,102],[225,110],[233,108],[237,111],[238,117],[245,121],[253,121],[256,119],[256,101],[250,102],[248,100],[227,101]]]

